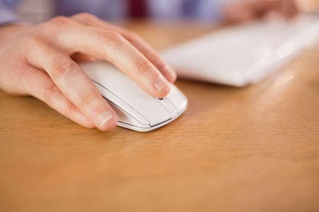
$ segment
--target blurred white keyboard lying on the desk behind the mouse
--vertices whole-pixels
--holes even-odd
[[[319,42],[319,15],[257,21],[212,32],[161,52],[180,78],[232,86],[256,83]]]

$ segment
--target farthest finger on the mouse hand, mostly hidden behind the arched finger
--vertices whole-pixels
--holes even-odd
[[[121,34],[126,40],[128,40],[133,46],[135,46],[142,54],[146,56],[146,58],[154,64],[154,66],[162,72],[164,77],[169,82],[174,82],[177,78],[176,72],[167,64],[164,62],[164,60],[156,53],[156,51],[143,39],[141,39],[140,36],[138,36],[134,32],[127,31],[126,29],[109,24],[99,18],[97,18],[94,15],[88,14],[88,13],[81,13],[76,14],[71,17],[74,20],[77,20],[78,22],[81,22],[82,24],[90,25],[90,26],[96,26],[103,29],[108,29],[110,31],[117,32]]]

